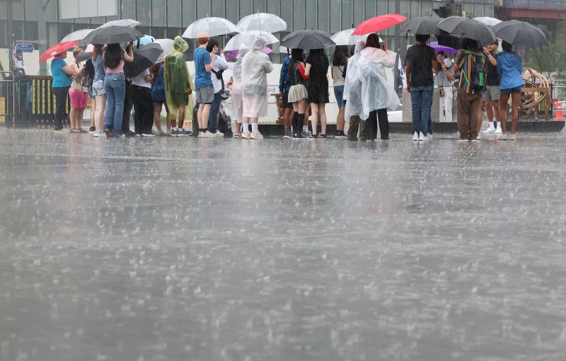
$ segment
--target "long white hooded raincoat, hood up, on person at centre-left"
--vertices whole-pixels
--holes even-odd
[[[248,118],[267,115],[267,73],[273,70],[270,58],[263,54],[267,39],[256,35],[252,48],[242,61],[243,116]]]

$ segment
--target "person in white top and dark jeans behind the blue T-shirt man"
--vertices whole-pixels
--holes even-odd
[[[218,118],[220,112],[220,102],[222,101],[221,95],[224,90],[224,79],[222,78],[222,73],[228,69],[228,63],[224,57],[224,49],[220,50],[220,56],[218,56],[218,41],[212,39],[208,42],[207,52],[214,55],[214,67],[210,74],[212,80],[212,86],[214,87],[214,102],[212,102],[212,107],[210,108],[210,115],[208,118],[208,131],[214,137],[224,137],[224,133],[218,130]]]

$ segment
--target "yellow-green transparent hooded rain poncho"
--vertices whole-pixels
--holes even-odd
[[[177,116],[178,109],[185,106],[189,111],[185,112],[185,118],[192,120],[192,95],[189,90],[194,91],[195,85],[187,67],[187,59],[184,52],[189,45],[183,38],[176,36],[173,40],[173,50],[165,58],[163,78],[165,79],[165,96],[167,107],[173,116]]]

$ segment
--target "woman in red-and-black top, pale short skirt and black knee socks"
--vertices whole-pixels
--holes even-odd
[[[308,104],[308,91],[306,90],[307,77],[305,75],[305,64],[303,62],[303,50],[291,50],[291,62],[289,62],[289,74],[291,87],[289,88],[289,102],[293,105],[293,139],[304,138],[303,124]]]

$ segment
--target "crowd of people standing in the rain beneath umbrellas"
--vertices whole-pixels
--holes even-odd
[[[516,123],[520,93],[521,58],[512,46],[502,43],[479,47],[475,40],[463,39],[454,62],[442,51],[434,52],[427,45],[427,35],[416,35],[416,44],[405,57],[406,87],[412,102],[412,140],[428,141],[432,133],[432,99],[434,86],[439,88],[440,121],[452,121],[453,86],[460,72],[457,88],[458,141],[478,142],[485,105],[489,127],[484,133],[498,134],[497,139],[516,139]],[[195,127],[200,138],[224,137],[218,129],[219,110],[225,88],[231,89],[235,137],[263,139],[258,130],[259,118],[267,116],[267,74],[274,67],[265,55],[267,39],[255,36],[250,47],[241,47],[233,66],[233,76],[224,82],[223,72],[229,69],[219,43],[201,33],[195,49],[195,74],[187,67],[188,44],[179,36],[173,50],[163,62],[125,76],[125,64],[134,61],[134,45],[94,45],[92,58],[81,67],[80,47],[73,51],[74,62],[67,64],[67,52],[56,55],[51,64],[52,91],[56,101],[56,133],[87,132],[81,127],[84,111],[91,100],[91,129],[94,137],[154,137],[156,135],[191,135],[185,119],[192,120],[193,95],[197,104]],[[353,54],[350,47],[336,46],[328,59],[322,49],[292,49],[284,59],[279,77],[283,100],[284,138],[326,139],[329,103],[328,79],[338,107],[335,139],[375,140],[379,131],[382,140],[389,137],[388,110],[398,107],[400,100],[387,81],[386,69],[395,67],[397,54],[370,34],[358,40]],[[330,73],[330,74],[329,74]],[[194,93],[194,94],[193,94]],[[67,98],[70,130],[63,121]],[[512,129],[507,134],[507,103],[512,103]],[[161,111],[165,105],[166,130],[162,129]],[[129,115],[134,109],[134,132],[129,130]],[[310,114],[310,116],[309,116]],[[308,129],[308,120],[311,129]],[[349,129],[345,134],[345,122]],[[320,128],[318,123],[320,122]],[[153,126],[156,132],[153,132]],[[320,129],[320,131],[319,131]]]

